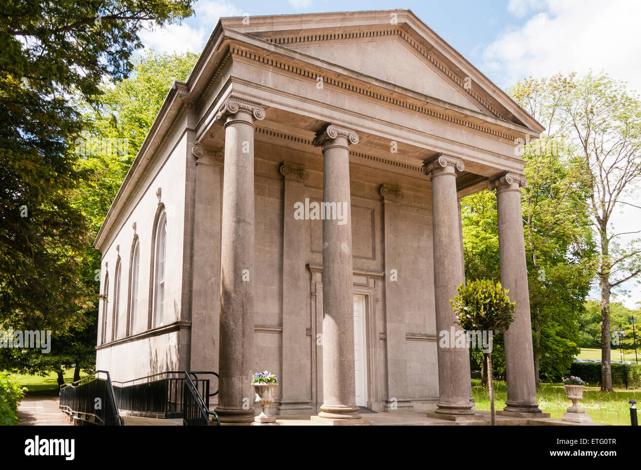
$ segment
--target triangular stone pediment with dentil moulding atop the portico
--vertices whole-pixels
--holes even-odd
[[[392,21],[393,20],[393,21]],[[221,19],[226,29],[260,38],[443,103],[543,127],[410,10],[310,13]]]

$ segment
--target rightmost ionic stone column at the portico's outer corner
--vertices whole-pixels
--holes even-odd
[[[540,413],[534,376],[532,327],[529,313],[528,267],[525,259],[520,187],[528,181],[521,174],[506,173],[490,182],[496,189],[499,221],[501,285],[516,302],[514,321],[504,333],[508,385],[506,412]]]

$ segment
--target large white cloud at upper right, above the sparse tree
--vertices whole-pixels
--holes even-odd
[[[483,51],[481,69],[501,77],[502,87],[529,75],[592,69],[641,92],[641,2],[510,0],[508,10],[532,16],[522,27],[501,32]]]

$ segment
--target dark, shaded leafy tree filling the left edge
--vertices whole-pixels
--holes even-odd
[[[95,274],[85,269],[92,221],[79,187],[92,168],[70,142],[83,130],[78,99],[128,76],[138,33],[192,13],[192,0],[5,1],[0,5],[0,324],[86,328]],[[85,272],[87,271],[87,272]],[[43,360],[43,362],[45,362]]]

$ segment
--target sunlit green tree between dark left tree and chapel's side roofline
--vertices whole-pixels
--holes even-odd
[[[89,223],[91,240],[96,237],[169,88],[174,81],[187,79],[196,59],[194,53],[158,55],[149,51],[133,60],[130,78],[101,85],[99,105],[76,103],[76,107],[83,111],[83,133],[78,140],[81,148],[90,148],[85,142],[104,142],[107,139],[121,139],[126,144],[119,147],[119,150],[126,151],[99,152],[96,155],[89,151],[79,159],[79,167],[90,177],[79,184],[74,203],[81,208]],[[54,363],[58,369],[54,370],[61,376],[62,367],[73,365],[75,378],[79,378],[79,371],[90,373],[94,367],[100,269],[99,251],[87,244],[79,270],[81,280],[91,292],[87,301],[90,322],[85,329],[77,327],[74,335],[63,335],[58,341],[61,353],[58,362]]]

